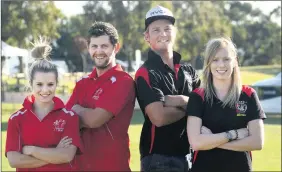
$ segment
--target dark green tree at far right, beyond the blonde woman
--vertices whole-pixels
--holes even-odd
[[[232,38],[242,65],[262,65],[281,62],[281,26],[272,16],[281,15],[281,7],[268,15],[253,9],[249,3],[229,2],[224,14],[232,23]]]

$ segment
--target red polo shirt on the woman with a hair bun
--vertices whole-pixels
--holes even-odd
[[[82,143],[79,135],[78,115],[64,108],[64,103],[54,97],[54,108],[42,120],[32,111],[34,96],[25,98],[23,108],[11,115],[8,121],[5,155],[9,151],[22,152],[24,145],[42,148],[55,148],[60,140],[68,136],[72,138],[80,153]],[[39,168],[23,169],[17,171],[73,171],[77,169],[76,157],[70,163],[47,164]]]

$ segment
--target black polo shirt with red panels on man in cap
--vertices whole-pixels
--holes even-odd
[[[200,85],[199,77],[191,65],[179,64],[181,55],[173,52],[174,70],[164,64],[152,50],[148,60],[135,75],[137,100],[145,122],[140,138],[141,158],[149,154],[185,156],[190,151],[186,134],[187,117],[163,127],[156,127],[145,114],[145,107],[153,102],[164,101],[165,95],[185,95]]]

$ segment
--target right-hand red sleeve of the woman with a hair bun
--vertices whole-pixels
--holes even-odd
[[[73,114],[67,118],[67,123],[62,134],[62,138],[68,136],[72,138],[72,144],[77,147],[77,154],[83,153],[83,145],[80,139],[80,132],[79,132],[79,117],[75,112],[71,111]]]

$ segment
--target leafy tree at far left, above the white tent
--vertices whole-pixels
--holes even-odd
[[[1,40],[12,46],[29,48],[39,35],[59,37],[64,16],[52,1],[1,1],[1,10]],[[22,72],[22,58],[19,61]]]

